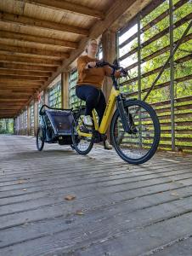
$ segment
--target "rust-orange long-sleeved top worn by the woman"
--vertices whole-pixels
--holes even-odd
[[[112,69],[110,67],[93,67],[86,68],[88,62],[97,61],[88,57],[88,55],[82,55],[77,60],[77,71],[78,71],[78,80],[76,85],[90,84],[94,87],[101,89],[104,76],[110,76]],[[120,72],[116,71],[116,78],[120,77]]]

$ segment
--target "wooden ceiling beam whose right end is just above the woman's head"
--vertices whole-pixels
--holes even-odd
[[[8,23],[14,23],[17,25],[22,25],[26,27],[36,27],[47,29],[49,31],[59,31],[59,32],[71,32],[77,35],[88,36],[88,30],[78,26],[70,26],[67,24],[61,24],[54,21],[48,20],[38,20],[33,19],[24,15],[13,15],[6,12],[0,12],[0,20],[6,21]]]

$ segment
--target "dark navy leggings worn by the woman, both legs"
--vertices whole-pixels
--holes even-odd
[[[98,113],[99,125],[104,115],[106,102],[102,90],[99,90],[92,85],[76,85],[76,96],[86,102],[85,115],[91,115],[93,108]]]

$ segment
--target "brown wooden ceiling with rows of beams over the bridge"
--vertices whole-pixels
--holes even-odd
[[[0,0],[0,118],[13,118],[81,55],[88,38],[150,0]]]

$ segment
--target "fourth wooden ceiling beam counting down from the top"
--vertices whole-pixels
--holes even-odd
[[[68,53],[57,52],[52,50],[45,49],[34,49],[28,47],[17,47],[17,46],[9,46],[0,44],[0,55],[31,55],[31,57],[35,58],[52,58],[52,59],[66,59],[69,57]]]

